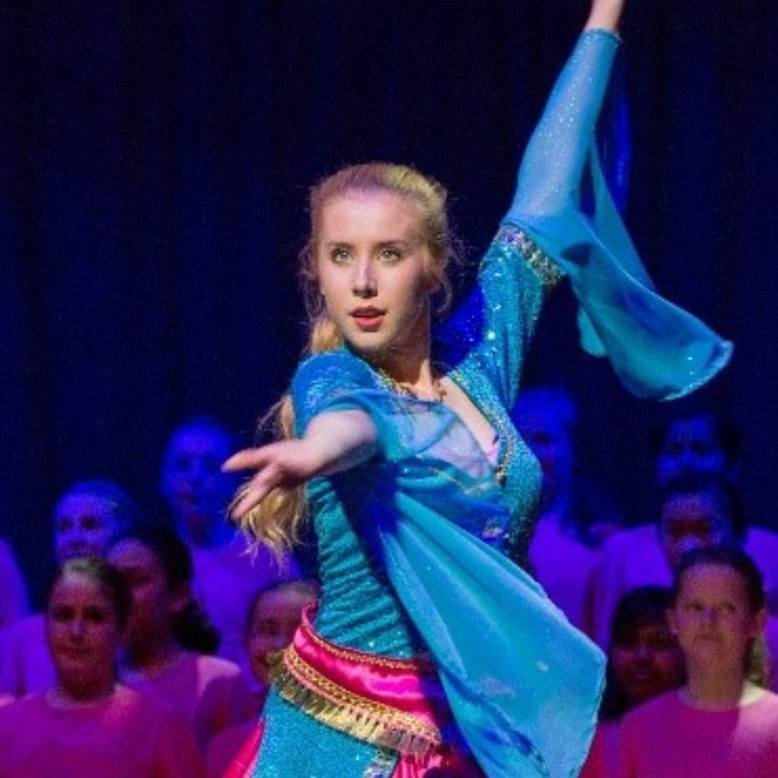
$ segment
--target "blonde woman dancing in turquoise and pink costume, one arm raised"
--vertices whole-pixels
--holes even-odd
[[[570,275],[587,345],[643,396],[683,394],[728,354],[640,282],[590,150],[621,5],[595,0],[475,293],[435,338],[440,185],[369,164],[312,193],[313,356],[279,411],[287,439],[225,465],[255,471],[233,516],[260,541],[284,548],[311,517],[322,580],[274,670],[249,775],[562,778],[584,759],[601,654],[500,553],[523,554],[539,490],[506,408],[541,300]]]

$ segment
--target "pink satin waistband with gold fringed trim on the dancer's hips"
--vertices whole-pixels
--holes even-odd
[[[331,643],[311,626],[312,612],[272,663],[279,694],[361,741],[418,757],[440,748],[451,714],[433,664]]]

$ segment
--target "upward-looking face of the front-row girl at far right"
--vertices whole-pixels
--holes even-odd
[[[699,564],[683,573],[671,626],[686,661],[708,671],[742,671],[766,613],[752,612],[745,581],[726,565]]]

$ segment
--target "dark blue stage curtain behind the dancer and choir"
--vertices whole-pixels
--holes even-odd
[[[657,286],[736,344],[698,399],[740,427],[749,513],[776,526],[772,5],[635,0],[624,51],[627,221]],[[157,510],[180,419],[211,412],[251,440],[301,345],[293,268],[315,180],[344,163],[412,163],[449,187],[478,258],[586,12],[573,0],[3,0],[0,534],[30,576],[69,482],[116,478]],[[569,382],[588,464],[644,519],[647,437],[669,409],[627,397],[581,355],[571,316],[561,292],[528,378]]]

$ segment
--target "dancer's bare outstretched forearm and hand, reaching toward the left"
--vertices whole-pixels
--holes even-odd
[[[377,439],[370,415],[344,410],[314,416],[300,439],[239,451],[223,469],[255,472],[233,505],[233,518],[243,517],[273,489],[294,489],[317,475],[332,475],[366,462],[376,452]]]

